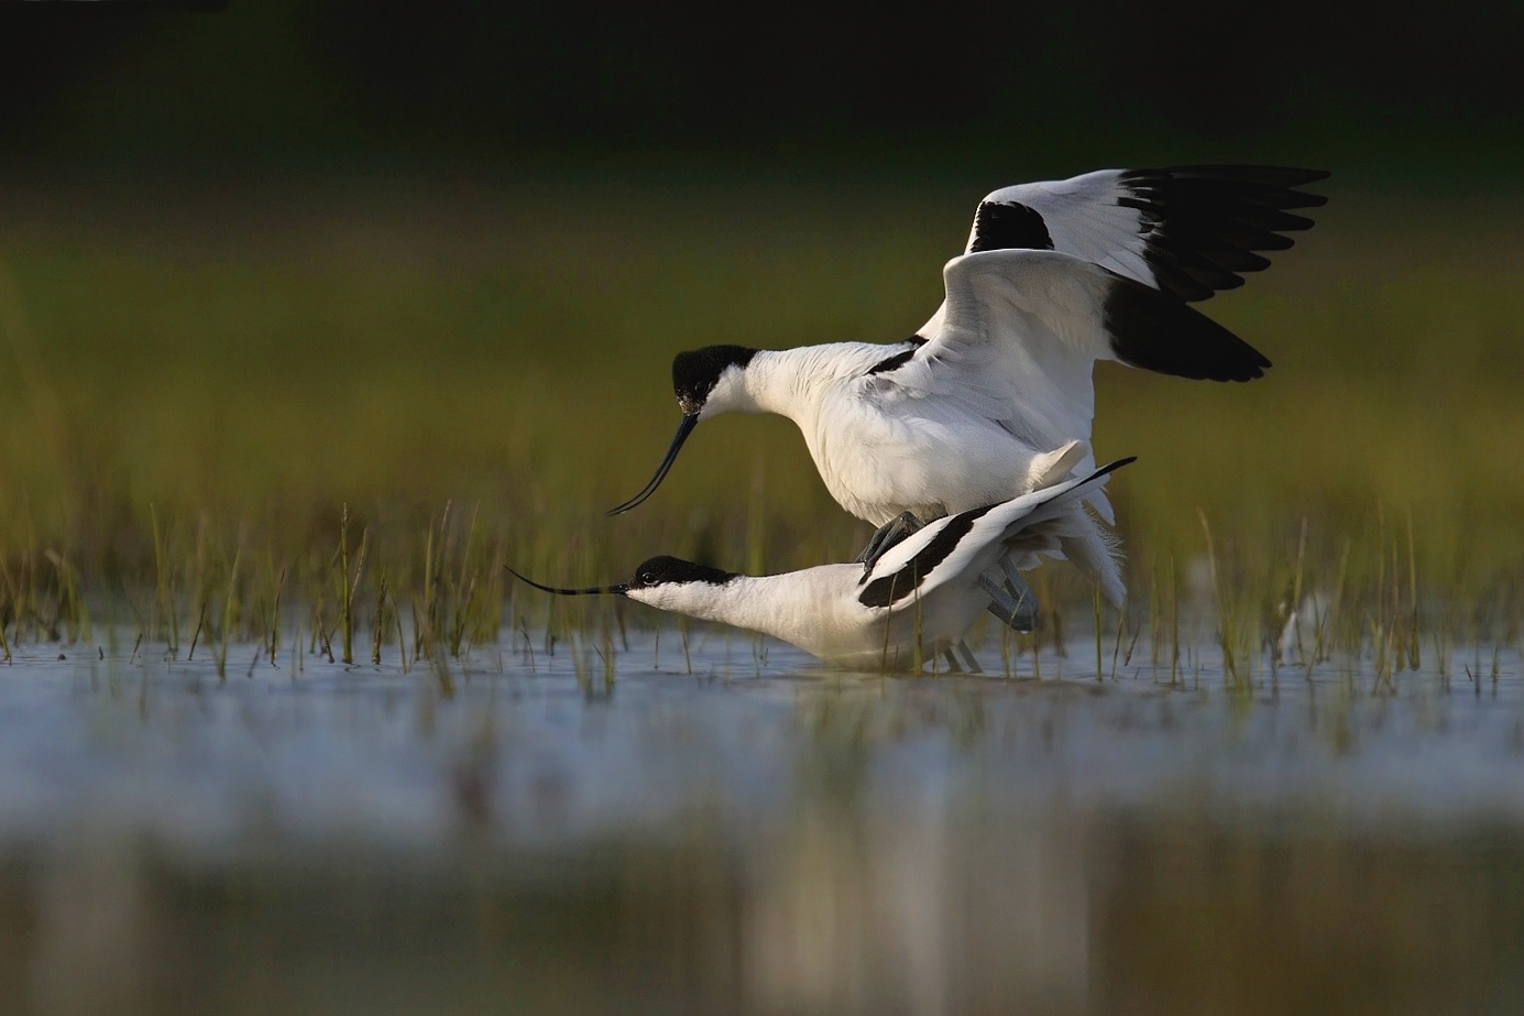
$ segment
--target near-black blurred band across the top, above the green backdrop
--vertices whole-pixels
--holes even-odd
[[[1518,3],[218,6],[0,3],[8,157],[1222,157],[1466,186],[1512,180],[1524,127]]]

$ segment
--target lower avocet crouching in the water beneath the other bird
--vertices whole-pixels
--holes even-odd
[[[1062,557],[1062,543],[1090,517],[1081,503],[1120,459],[1090,476],[1012,500],[943,516],[869,564],[823,564],[783,575],[736,575],[675,557],[654,557],[614,586],[552,593],[614,593],[706,621],[721,621],[792,642],[846,667],[907,670],[949,651],[989,606],[980,575],[1004,557],[1036,567]],[[1108,554],[1105,567],[1117,572]],[[1116,581],[1120,581],[1119,578]],[[917,647],[919,639],[919,647]],[[919,654],[917,654],[919,650]]]

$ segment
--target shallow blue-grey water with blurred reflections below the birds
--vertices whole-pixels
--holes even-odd
[[[44,648],[0,668],[5,1011],[1524,1004],[1512,651],[1378,694],[1097,682],[1093,642],[905,679],[632,635],[611,683],[523,639],[221,680]]]

